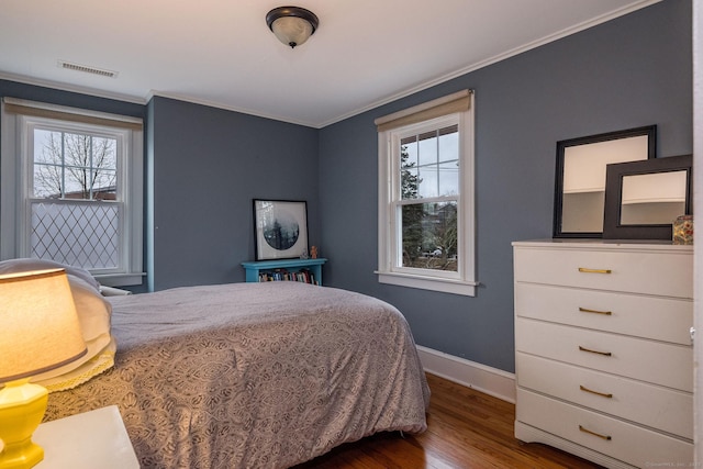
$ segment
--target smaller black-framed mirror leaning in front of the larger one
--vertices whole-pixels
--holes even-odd
[[[607,166],[603,237],[671,239],[673,221],[691,215],[692,155]]]

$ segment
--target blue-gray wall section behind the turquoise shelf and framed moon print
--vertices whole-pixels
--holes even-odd
[[[148,109],[153,289],[244,281],[252,199],[308,201],[320,245],[316,130],[166,98]]]

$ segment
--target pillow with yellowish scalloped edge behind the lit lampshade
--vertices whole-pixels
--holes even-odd
[[[100,294],[100,283],[80,267],[53,260],[11,259],[0,261],[0,275],[63,268],[70,284],[88,353],[60,368],[32,377],[32,381],[53,391],[75,388],[114,366],[116,345],[110,333],[112,305]]]

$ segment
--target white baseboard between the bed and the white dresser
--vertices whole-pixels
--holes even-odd
[[[503,401],[515,403],[515,373],[487,367],[421,345],[417,346],[417,353],[425,371]]]

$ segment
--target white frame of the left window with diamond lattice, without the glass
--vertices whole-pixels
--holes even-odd
[[[37,110],[37,115],[5,112],[5,104]],[[42,116],[43,113],[48,118]],[[72,121],[55,116],[60,114],[80,118]],[[143,272],[144,137],[142,120],[12,98],[2,100],[0,119],[2,121],[0,259],[30,257],[34,129],[38,126],[64,132],[89,133],[116,139],[118,187],[123,188],[119,214],[121,243],[119,268],[96,269],[91,270],[91,273],[100,283],[110,287],[142,284],[145,276]],[[81,120],[89,122],[80,122]],[[129,125],[111,126],[110,122]]]

